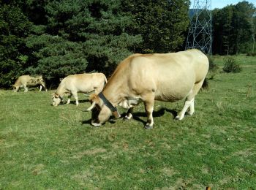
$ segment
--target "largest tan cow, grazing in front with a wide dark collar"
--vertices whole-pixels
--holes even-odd
[[[199,50],[165,54],[134,54],[124,59],[113,72],[102,93],[91,96],[91,124],[100,126],[111,113],[119,116],[116,105],[129,108],[142,101],[148,117],[145,128],[153,128],[154,100],[175,102],[185,100],[176,119],[181,120],[189,108],[192,115],[194,99],[208,72],[208,58]]]

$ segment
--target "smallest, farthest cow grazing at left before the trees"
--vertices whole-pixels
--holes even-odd
[[[22,75],[18,77],[15,84],[12,85],[12,88],[14,88],[15,92],[18,91],[20,87],[24,88],[24,92],[29,91],[28,86],[40,86],[39,91],[42,90],[42,87],[45,88],[45,91],[47,91],[47,88],[45,87],[45,81],[42,78],[42,75]]]

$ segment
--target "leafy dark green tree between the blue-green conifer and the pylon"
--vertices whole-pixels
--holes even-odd
[[[133,17],[133,34],[141,34],[142,53],[167,53],[181,49],[189,25],[187,0],[124,0],[122,9]]]

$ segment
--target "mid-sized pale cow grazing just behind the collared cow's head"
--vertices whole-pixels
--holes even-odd
[[[99,94],[105,83],[107,83],[107,78],[103,73],[84,73],[64,77],[56,92],[52,94],[53,106],[61,103],[64,94],[68,94],[67,104],[70,103],[70,98],[73,95],[75,104],[78,106],[78,92],[89,93],[94,91],[95,94]]]

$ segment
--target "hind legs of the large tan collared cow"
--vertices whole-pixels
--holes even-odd
[[[197,95],[198,91],[200,91],[200,88],[202,87],[202,85],[203,85],[203,80],[201,80],[199,83],[196,83],[194,85],[194,87],[192,88],[192,91],[190,91],[189,95],[185,100],[184,107],[182,108],[181,112],[178,113],[178,115],[176,116],[176,120],[183,119],[188,108],[189,108],[189,115],[193,115],[193,113],[195,112],[195,107],[194,107],[195,96]]]

